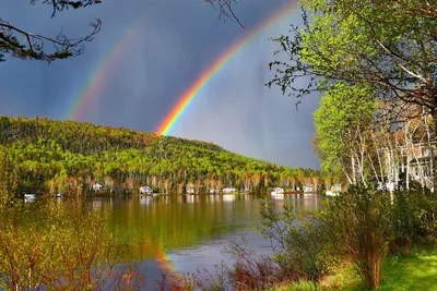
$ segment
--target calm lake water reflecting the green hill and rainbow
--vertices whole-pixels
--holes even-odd
[[[276,209],[293,205],[299,209],[321,207],[316,195],[285,194],[283,198],[264,196]],[[263,241],[252,227],[261,221],[262,196],[252,194],[206,194],[178,196],[94,197],[88,207],[108,213],[113,231],[134,245],[129,259],[139,262],[147,281],[173,274],[214,270],[222,260],[229,263],[223,250],[240,235],[263,252]]]

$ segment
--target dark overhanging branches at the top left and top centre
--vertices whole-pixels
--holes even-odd
[[[218,17],[232,17],[244,27],[232,8],[232,4],[236,2],[235,0],[204,1],[218,10]],[[86,8],[88,5],[102,3],[102,0],[31,0],[31,4],[37,2],[50,5],[52,8],[51,17],[55,17],[57,12],[68,9]],[[92,27],[91,33],[83,37],[69,38],[62,32],[56,37],[49,37],[26,32],[0,17],[0,62],[5,61],[5,56],[8,54],[14,58],[46,62],[82,54],[84,51],[84,44],[91,41],[101,31],[102,21],[96,19],[95,22],[90,23],[90,26]]]

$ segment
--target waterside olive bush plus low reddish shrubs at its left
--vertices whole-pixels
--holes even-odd
[[[226,252],[235,259],[228,271],[234,288],[253,290],[283,282],[317,282],[338,264],[329,228],[315,219],[315,213],[295,214],[292,207],[284,207],[276,214],[264,203],[261,215],[264,221],[258,231],[270,240],[270,252],[257,254],[248,248],[244,238],[241,242],[232,242]]]

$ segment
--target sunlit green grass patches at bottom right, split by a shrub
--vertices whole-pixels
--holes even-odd
[[[408,257],[386,260],[380,290],[437,290],[437,248],[418,250]],[[344,266],[320,283],[299,282],[273,290],[367,290],[352,265]]]

